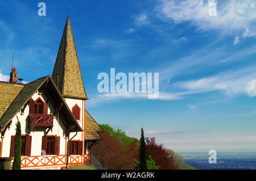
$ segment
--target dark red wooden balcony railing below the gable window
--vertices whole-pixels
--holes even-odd
[[[38,113],[32,113],[28,115],[30,117],[31,127],[53,127],[54,115],[43,115]]]

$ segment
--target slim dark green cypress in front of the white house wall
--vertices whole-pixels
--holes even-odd
[[[20,121],[16,123],[16,134],[15,134],[15,142],[14,142],[14,161],[13,161],[13,170],[20,170],[21,164],[21,129],[20,129]]]

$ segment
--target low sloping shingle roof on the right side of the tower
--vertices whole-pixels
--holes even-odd
[[[92,116],[85,110],[85,140],[102,140],[100,132],[104,132]]]

